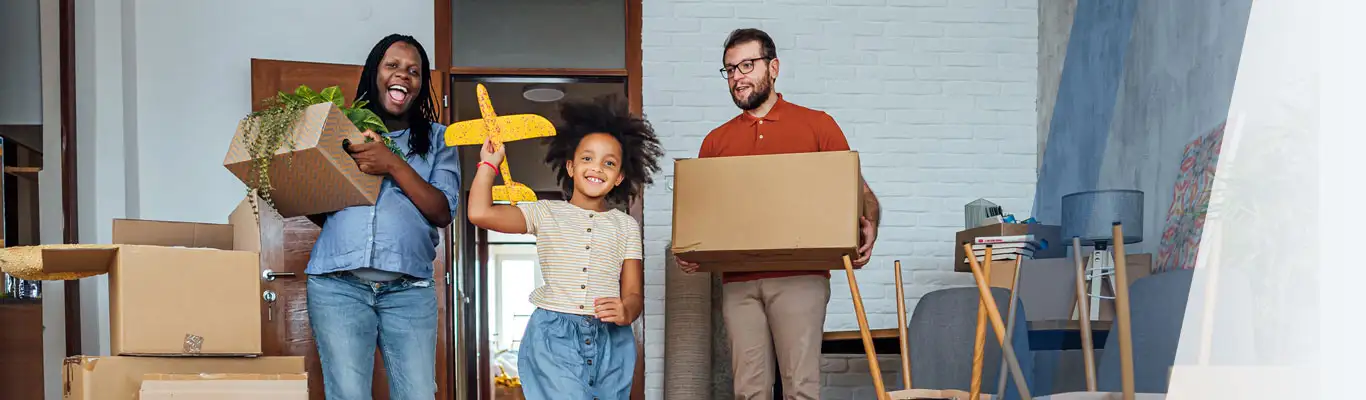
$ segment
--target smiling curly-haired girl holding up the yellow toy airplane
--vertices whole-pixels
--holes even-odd
[[[535,235],[545,285],[518,351],[527,400],[628,399],[635,371],[631,322],[645,303],[641,227],[613,206],[652,183],[664,154],[654,130],[620,97],[564,104],[545,161],[570,201],[493,205],[505,146],[485,142],[470,188],[470,221]]]

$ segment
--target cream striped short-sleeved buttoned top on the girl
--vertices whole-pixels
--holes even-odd
[[[598,298],[622,296],[622,262],[643,259],[641,225],[620,212],[594,212],[566,201],[519,202],[526,232],[535,235],[545,285],[531,292],[537,307],[593,315]]]

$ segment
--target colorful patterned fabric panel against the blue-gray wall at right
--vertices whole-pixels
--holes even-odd
[[[1224,126],[1225,123],[1220,123],[1209,134],[1186,145],[1153,273],[1195,268],[1214,169],[1224,143]]]

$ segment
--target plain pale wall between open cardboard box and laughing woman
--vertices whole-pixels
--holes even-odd
[[[417,37],[432,57],[432,12],[430,0],[137,1],[131,206],[143,218],[224,221],[245,195],[223,157],[250,112],[250,60],[363,64],[389,33]]]

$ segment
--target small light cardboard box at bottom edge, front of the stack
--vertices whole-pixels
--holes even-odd
[[[141,400],[309,400],[307,374],[146,374]]]

